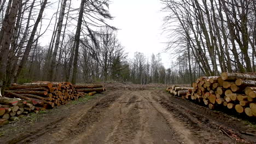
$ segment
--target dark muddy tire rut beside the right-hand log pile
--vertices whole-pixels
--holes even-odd
[[[198,140],[201,140],[197,141],[198,143],[251,143],[242,139],[239,135],[234,134],[232,130],[230,131],[230,129],[210,121],[207,117],[184,109],[181,105],[167,100],[164,95],[160,95],[159,99],[154,100],[158,101],[166,110],[173,113],[177,119],[180,119],[186,124],[187,128],[193,132],[192,134],[197,137]],[[221,129],[230,133],[231,136],[223,134]],[[211,137],[211,139],[209,139],[209,137]]]

